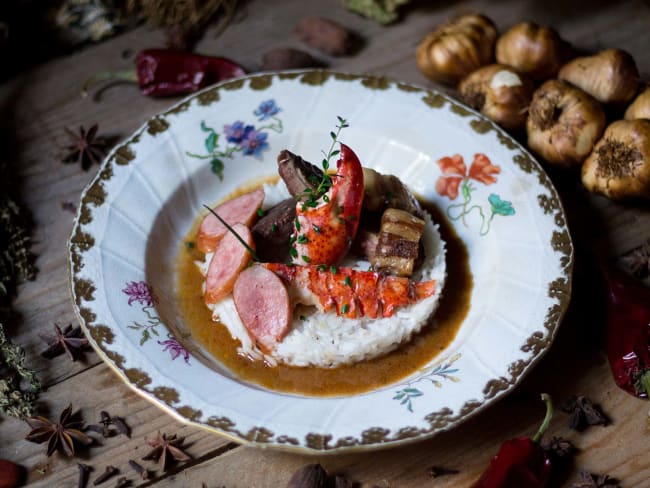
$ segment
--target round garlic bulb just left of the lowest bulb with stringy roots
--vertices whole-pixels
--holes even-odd
[[[580,166],[605,128],[605,113],[590,95],[561,80],[533,94],[528,109],[528,147],[551,164]]]

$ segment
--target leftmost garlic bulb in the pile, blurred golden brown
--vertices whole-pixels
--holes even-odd
[[[469,14],[441,25],[418,45],[416,61],[431,80],[455,85],[492,61],[497,29],[483,15]]]

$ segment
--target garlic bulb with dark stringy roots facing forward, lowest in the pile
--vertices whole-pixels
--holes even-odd
[[[612,122],[582,166],[582,184],[614,200],[650,199],[650,120]]]

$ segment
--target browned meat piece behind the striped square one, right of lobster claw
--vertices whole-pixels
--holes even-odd
[[[394,208],[422,216],[420,204],[397,176],[383,175],[373,169],[363,168],[363,186],[364,210],[381,213],[387,208]]]

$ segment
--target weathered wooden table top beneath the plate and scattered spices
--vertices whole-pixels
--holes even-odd
[[[623,48],[635,57],[644,78],[650,78],[650,5],[643,2],[417,2],[402,22],[390,27],[354,15],[334,0],[242,3],[225,33],[218,38],[208,33],[197,51],[227,55],[254,71],[261,54],[271,47],[305,49],[293,36],[293,25],[306,14],[320,15],[337,20],[365,39],[364,47],[350,57],[329,58],[312,51],[331,68],[434,87],[415,64],[419,40],[457,13],[480,11],[502,30],[521,20],[534,20],[554,26],[580,49]],[[575,432],[568,429],[567,415],[556,413],[549,433],[566,437],[580,449],[563,486],[570,486],[580,470],[588,470],[616,477],[624,487],[650,487],[650,403],[622,392],[612,381],[600,333],[600,295],[591,286],[593,269],[584,252],[602,245],[611,256],[620,256],[643,244],[650,238],[650,207],[615,204],[589,195],[572,174],[552,174],[567,208],[577,250],[573,300],[555,343],[515,393],[434,438],[407,447],[314,457],[239,446],[175,421],[123,384],[94,352],[75,363],[65,356],[43,359],[38,334],[51,332],[54,322],[75,322],[66,268],[66,242],[74,216],[62,208],[62,202],[78,202],[94,171],[59,162],[57,156],[66,140],[63,128],[99,122],[103,134],[125,138],[173,103],[173,99],[142,96],[129,85],[105,91],[99,101],[79,97],[80,84],[89,74],[124,69],[131,65],[129,56],[134,52],[162,45],[159,30],[141,27],[48,62],[0,86],[3,138],[12,161],[20,168],[23,201],[35,220],[33,250],[39,268],[35,281],[21,285],[14,302],[20,318],[7,332],[25,348],[29,364],[47,387],[41,395],[42,413],[58,414],[72,402],[87,422],[96,422],[100,411],[107,410],[124,417],[133,428],[130,439],[107,438],[82,451],[81,462],[94,468],[91,483],[112,464],[132,479],[134,486],[275,487],[285,486],[298,467],[319,462],[329,472],[343,474],[364,487],[469,486],[502,440],[535,432],[543,414],[536,398],[546,391],[558,402],[571,394],[584,394],[599,403],[611,419],[608,426]],[[44,446],[24,440],[28,431],[24,422],[2,418],[0,459],[25,466],[30,486],[77,486],[77,460],[60,454],[46,457]],[[158,431],[184,436],[192,460],[167,473],[158,470],[142,481],[128,460],[140,459],[147,449],[145,439]],[[432,478],[428,468],[434,465],[459,473]],[[115,479],[102,486],[114,485]]]

